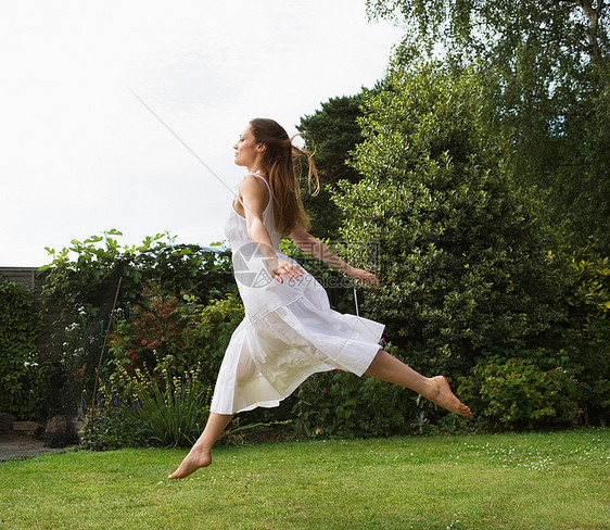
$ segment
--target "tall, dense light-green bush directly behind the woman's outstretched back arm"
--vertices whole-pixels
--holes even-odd
[[[367,177],[336,195],[343,235],[379,245],[366,308],[389,339],[420,370],[461,373],[561,318],[552,234],[485,137],[475,74],[396,66],[390,87],[361,122],[354,164]]]

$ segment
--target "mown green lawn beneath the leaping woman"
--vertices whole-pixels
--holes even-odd
[[[610,429],[218,447],[0,464],[0,529],[607,529]]]

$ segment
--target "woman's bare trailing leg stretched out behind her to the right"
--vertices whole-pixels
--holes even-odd
[[[389,354],[385,350],[379,350],[365,374],[382,381],[393,382],[411,389],[432,403],[459,416],[472,417],[470,408],[455,396],[449,388],[449,383],[443,376],[424,377]]]

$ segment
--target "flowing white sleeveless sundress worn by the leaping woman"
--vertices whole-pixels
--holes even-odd
[[[281,258],[295,263],[279,250],[269,185],[262,175],[254,176],[269,189],[263,224],[274,248]],[[232,204],[225,234],[245,317],[227,346],[211,412],[278,406],[318,371],[343,369],[361,376],[380,350],[384,326],[331,310],[325,289],[307,272],[298,281],[275,280]]]

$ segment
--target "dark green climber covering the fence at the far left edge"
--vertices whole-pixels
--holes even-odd
[[[36,345],[41,327],[31,291],[0,282],[0,411],[20,419],[41,419],[47,411],[49,366]]]

